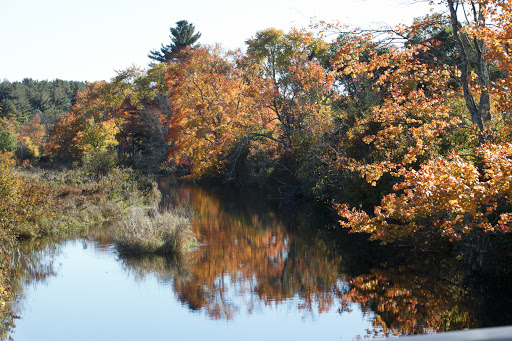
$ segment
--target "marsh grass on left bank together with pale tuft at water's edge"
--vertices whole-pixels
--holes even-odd
[[[87,234],[109,223],[113,243],[121,252],[178,255],[193,245],[187,213],[161,210],[161,193],[151,176],[131,168],[107,173],[84,168],[22,170],[23,179],[37,181],[51,193],[49,221],[35,221],[38,229],[24,229],[15,238]]]

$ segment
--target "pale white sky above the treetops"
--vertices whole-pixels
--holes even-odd
[[[109,80],[146,67],[179,20],[199,43],[228,49],[269,27],[307,27],[311,18],[361,27],[411,22],[429,13],[412,0],[0,0],[0,81]]]

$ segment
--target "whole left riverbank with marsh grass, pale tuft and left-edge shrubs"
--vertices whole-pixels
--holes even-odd
[[[154,179],[130,168],[94,173],[82,168],[17,168],[3,156],[0,169],[0,339],[12,326],[11,258],[20,240],[87,236],[96,226],[113,226],[120,252],[179,256],[192,240],[183,213],[161,212]]]

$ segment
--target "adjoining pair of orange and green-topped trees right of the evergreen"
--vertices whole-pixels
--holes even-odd
[[[303,156],[297,151],[332,129],[334,73],[320,63],[327,44],[275,29],[247,44],[247,55],[203,47],[168,67],[169,156],[192,178],[233,178],[239,159],[245,176],[268,175],[277,164],[288,170],[282,159]]]

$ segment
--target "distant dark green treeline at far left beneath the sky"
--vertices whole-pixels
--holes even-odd
[[[0,117],[13,118],[16,123],[27,123],[36,114],[41,123],[51,126],[75,104],[76,94],[86,83],[77,81],[36,81],[25,78],[21,82],[0,83]]]

